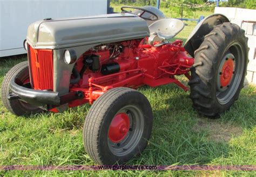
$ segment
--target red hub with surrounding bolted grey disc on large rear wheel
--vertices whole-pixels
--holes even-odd
[[[223,58],[219,66],[218,91],[225,91],[230,86],[234,75],[234,67],[234,56],[230,53]]]

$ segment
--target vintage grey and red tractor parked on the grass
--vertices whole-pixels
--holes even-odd
[[[153,6],[121,13],[45,18],[28,27],[28,61],[6,74],[4,106],[17,116],[91,104],[83,127],[87,154],[100,165],[124,164],[146,148],[153,114],[136,88],[176,84],[192,106],[218,118],[238,99],[248,62],[245,31],[213,14],[183,45],[184,28]],[[177,76],[184,75],[188,88]]]

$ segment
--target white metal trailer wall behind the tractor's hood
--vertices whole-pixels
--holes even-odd
[[[0,0],[0,57],[25,53],[29,24],[47,17],[107,13],[107,0]]]

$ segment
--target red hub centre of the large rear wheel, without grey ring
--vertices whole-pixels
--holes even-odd
[[[223,67],[221,68],[221,73],[220,73],[221,86],[226,87],[230,84],[233,77],[233,70],[234,70],[233,58],[228,58],[223,64]]]

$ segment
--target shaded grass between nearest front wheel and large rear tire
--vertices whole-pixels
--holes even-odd
[[[170,93],[169,89],[172,90],[170,97],[166,95]],[[246,95],[250,88],[242,91],[240,100],[229,112],[221,115],[220,119],[208,119],[199,115],[191,107],[192,101],[187,94],[174,85],[144,87],[141,91],[147,95],[149,90],[162,96],[157,100],[151,99],[151,104],[161,101],[161,105],[165,106],[153,108],[154,124],[149,145],[139,158],[131,160],[129,164],[211,164],[228,158],[237,148],[240,148],[240,153],[249,153],[246,148],[239,147],[239,144],[231,146],[230,141],[239,138],[242,130],[250,130],[255,125],[255,111],[251,111],[254,110],[255,100],[251,95]],[[255,91],[251,90],[250,93],[255,96]],[[244,107],[247,107],[246,110]],[[237,112],[241,114],[234,117]],[[242,115],[252,117],[241,120]],[[237,161],[238,164],[240,162]]]

